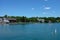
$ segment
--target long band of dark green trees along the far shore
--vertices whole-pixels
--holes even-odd
[[[52,23],[60,22],[60,17],[26,17],[26,16],[7,16],[8,18],[15,18],[16,22],[39,22],[37,19],[44,19],[45,23],[51,21]]]

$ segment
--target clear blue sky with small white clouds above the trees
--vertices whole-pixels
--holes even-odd
[[[0,0],[0,16],[60,17],[60,0]]]

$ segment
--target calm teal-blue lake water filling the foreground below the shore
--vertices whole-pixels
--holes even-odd
[[[60,23],[0,24],[0,40],[60,40]]]

